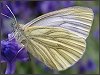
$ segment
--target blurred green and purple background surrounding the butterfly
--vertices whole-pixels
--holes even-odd
[[[7,4],[15,14],[19,23],[27,23],[32,19],[48,13],[50,11],[67,8],[71,6],[84,6],[93,9],[93,25],[87,38],[87,47],[85,54],[72,67],[65,71],[51,71],[44,64],[37,60],[27,62],[17,62],[15,74],[98,74],[99,73],[99,2],[98,1],[2,1],[3,12],[11,16],[9,10],[5,7]],[[5,24],[6,22],[6,24]],[[3,17],[2,39],[12,31],[12,20]],[[5,63],[2,64],[5,70]]]

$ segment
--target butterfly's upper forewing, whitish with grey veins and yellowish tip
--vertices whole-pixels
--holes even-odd
[[[54,26],[65,28],[86,39],[93,21],[93,11],[86,7],[69,7],[44,14],[26,24],[35,26]]]

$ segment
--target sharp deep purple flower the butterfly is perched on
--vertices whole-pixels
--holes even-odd
[[[27,61],[28,54],[25,48],[22,48],[18,42],[13,40],[1,41],[1,56],[0,61],[7,63],[5,74],[13,74],[17,61]]]

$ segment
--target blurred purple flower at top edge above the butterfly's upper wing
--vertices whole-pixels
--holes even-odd
[[[43,1],[42,3],[40,3],[40,10],[43,13],[47,13],[73,5],[73,1]]]

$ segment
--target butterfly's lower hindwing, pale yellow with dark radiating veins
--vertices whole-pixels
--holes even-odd
[[[63,28],[31,26],[24,32],[29,52],[51,69],[67,69],[85,51],[85,40]]]

